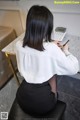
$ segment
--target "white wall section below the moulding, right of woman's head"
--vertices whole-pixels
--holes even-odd
[[[67,33],[75,36],[80,36],[80,14],[71,13],[53,13],[54,26],[64,26],[67,28]]]

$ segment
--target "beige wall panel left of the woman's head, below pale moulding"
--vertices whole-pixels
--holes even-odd
[[[12,27],[18,36],[23,33],[19,10],[0,10],[0,26]]]

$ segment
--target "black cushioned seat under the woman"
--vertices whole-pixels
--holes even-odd
[[[15,99],[9,112],[8,120],[63,120],[66,103],[57,101],[53,111],[44,116],[32,116],[23,112]]]

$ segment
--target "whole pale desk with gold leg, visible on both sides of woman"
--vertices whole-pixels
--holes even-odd
[[[22,40],[24,38],[24,33],[21,34],[18,38],[16,38],[14,41],[12,41],[9,45],[7,45],[4,49],[2,49],[3,52],[5,52],[6,57],[8,58],[8,61],[11,65],[11,69],[13,71],[13,74],[17,80],[18,85],[19,80],[18,77],[16,75],[14,66],[11,62],[11,59],[9,57],[10,54],[15,54],[15,44],[17,41]],[[71,35],[66,35],[66,37],[64,39],[69,39],[69,46],[70,46],[70,52],[73,53],[79,60],[79,64],[80,64],[80,38],[79,37],[75,37],[75,36],[71,36]],[[76,44],[75,44],[76,43]]]

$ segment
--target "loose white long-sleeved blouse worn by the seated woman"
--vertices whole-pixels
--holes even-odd
[[[53,75],[74,75],[79,63],[69,51],[63,52],[55,43],[44,42],[44,51],[16,43],[18,70],[28,83],[43,83]]]

